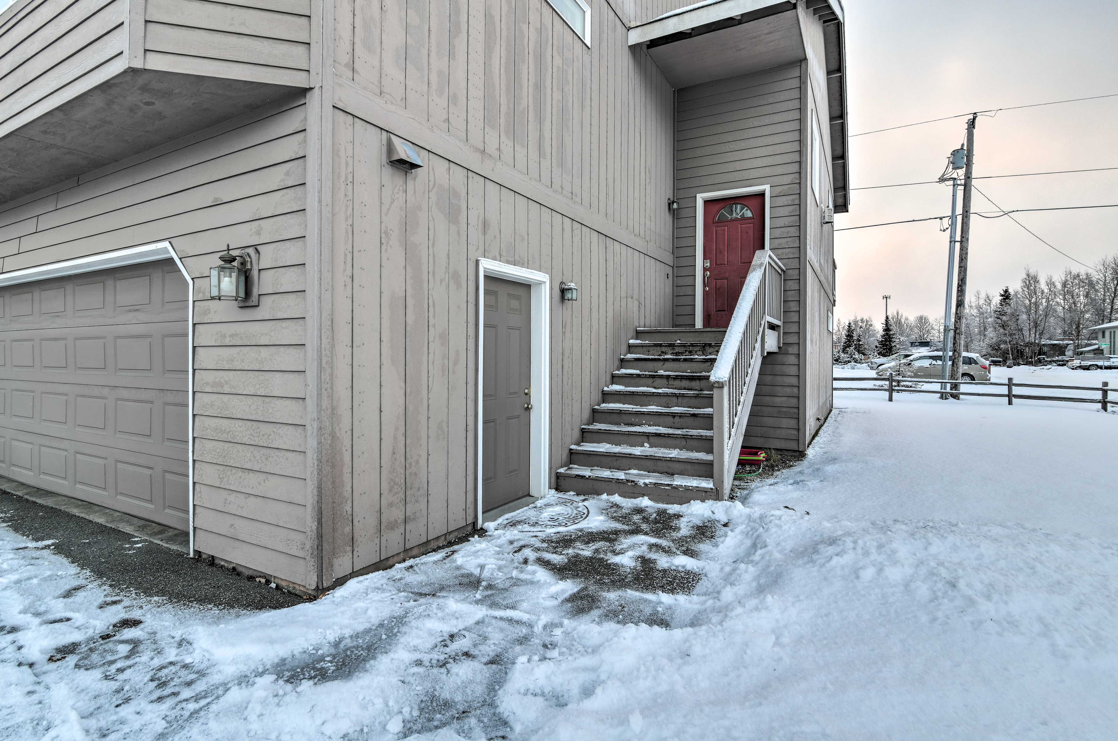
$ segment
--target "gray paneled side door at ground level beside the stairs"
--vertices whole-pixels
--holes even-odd
[[[482,364],[482,510],[529,493],[532,289],[485,278]]]

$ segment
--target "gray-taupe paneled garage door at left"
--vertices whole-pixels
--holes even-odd
[[[0,475],[187,529],[187,286],[161,260],[0,288]]]

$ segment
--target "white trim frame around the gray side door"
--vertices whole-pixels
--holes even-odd
[[[505,263],[477,258],[477,521],[482,525],[482,389],[485,367],[485,276],[527,283],[532,287],[532,411],[529,414],[529,494],[543,496],[548,493],[550,469],[548,467],[549,419],[551,416],[550,354],[551,354],[551,278],[546,273],[517,267]]]

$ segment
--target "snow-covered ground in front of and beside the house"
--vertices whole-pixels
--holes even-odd
[[[108,593],[0,528],[0,738],[1115,738],[1118,415],[835,405],[745,502],[518,513],[275,612]]]

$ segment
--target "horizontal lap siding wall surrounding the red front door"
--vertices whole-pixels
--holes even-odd
[[[800,95],[796,64],[676,96],[675,326],[694,326],[695,196],[769,186],[769,246],[787,268],[785,325],[780,352],[761,361],[745,437],[755,447],[800,447]]]

